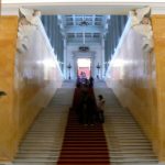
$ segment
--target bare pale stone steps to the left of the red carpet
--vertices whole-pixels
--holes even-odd
[[[55,165],[63,144],[74,84],[63,84],[29,130],[13,165]]]

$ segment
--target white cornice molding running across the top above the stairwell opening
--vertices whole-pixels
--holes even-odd
[[[65,1],[65,2],[64,2]],[[7,3],[8,2],[8,3]],[[47,0],[46,2],[22,2],[13,3],[10,0],[3,0],[2,3],[2,14],[19,14],[19,8],[24,7],[29,9],[40,10],[43,14],[128,14],[130,10],[139,9],[150,6],[153,9],[153,13],[164,13],[165,14],[165,2],[150,0],[140,1],[131,0],[119,1],[119,0],[105,0],[105,1],[96,1],[89,0],[88,2],[68,2],[66,0],[62,0],[59,2],[53,2],[53,0]]]

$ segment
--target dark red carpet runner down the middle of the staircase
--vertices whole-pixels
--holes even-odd
[[[76,89],[74,101],[79,99],[78,92]],[[79,124],[75,111],[70,110],[57,165],[110,165],[102,124]]]

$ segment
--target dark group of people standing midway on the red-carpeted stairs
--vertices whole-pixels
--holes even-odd
[[[95,123],[103,123],[105,99],[102,95],[97,98],[97,103],[92,90],[87,85],[79,87],[79,99],[76,107],[79,123],[85,125],[94,125]]]

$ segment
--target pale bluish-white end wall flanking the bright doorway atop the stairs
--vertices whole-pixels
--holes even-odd
[[[74,67],[75,65],[75,58],[74,58],[74,52],[78,51],[79,45],[77,44],[69,44],[66,47],[66,65],[68,65],[70,63],[70,65],[73,66],[70,69],[70,74],[72,74],[72,78],[76,78],[76,68]],[[90,52],[95,52],[94,55],[94,77],[97,76],[98,74],[98,69],[96,68],[97,64],[99,63],[101,66],[103,64],[102,62],[102,47],[101,44],[92,44],[89,46],[89,53]],[[85,57],[87,57],[89,55],[89,53],[85,53]],[[102,73],[102,67],[100,68],[100,77],[103,77],[103,73]],[[66,78],[68,78],[68,69],[66,68]]]

